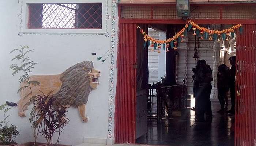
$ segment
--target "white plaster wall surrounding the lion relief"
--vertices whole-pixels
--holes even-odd
[[[111,5],[111,1],[109,1],[109,4]],[[12,71],[9,69],[9,66],[14,63],[11,62],[11,58],[15,55],[9,54],[9,52],[18,48],[19,45],[28,45],[30,49],[35,49],[33,53],[30,53],[30,57],[39,64],[35,65],[32,74],[59,74],[78,62],[91,60],[94,62],[94,68],[101,70],[101,77],[99,78],[98,88],[91,92],[87,103],[86,113],[89,122],[83,123],[78,110],[70,108],[67,114],[70,122],[64,127],[64,133],[61,133],[60,143],[77,145],[83,142],[84,137],[107,139],[110,58],[102,64],[97,61],[97,57],[105,54],[110,49],[110,37],[104,35],[49,34],[23,34],[19,37],[17,14],[20,4],[18,4],[18,0],[1,0],[0,7],[0,18],[2,20],[0,23],[0,104],[5,103],[5,101],[17,102],[20,99],[16,92],[19,88],[18,79],[21,73],[13,77],[11,76]],[[109,7],[109,15],[111,15],[111,7]],[[108,32],[110,33],[110,20],[108,25]],[[70,30],[70,33],[72,33],[72,30]],[[91,52],[95,52],[97,55],[92,56]],[[27,110],[27,115],[30,111],[31,106]],[[11,109],[8,114],[11,115],[10,123],[18,126],[20,130],[16,142],[34,141],[29,116],[20,118],[17,107]],[[0,119],[2,116],[3,113],[0,113]],[[38,139],[44,141],[42,137]]]

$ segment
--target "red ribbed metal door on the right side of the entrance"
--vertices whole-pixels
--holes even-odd
[[[235,145],[256,145],[256,25],[237,34]]]

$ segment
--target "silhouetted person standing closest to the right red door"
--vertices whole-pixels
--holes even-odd
[[[231,109],[227,113],[235,114],[236,105],[236,56],[231,56],[229,58],[231,66],[230,78],[229,78],[229,89],[230,89],[230,99],[231,99]]]

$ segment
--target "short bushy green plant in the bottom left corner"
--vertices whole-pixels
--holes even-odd
[[[11,124],[8,125],[7,118],[10,115],[6,115],[11,108],[6,108],[7,104],[2,104],[0,110],[3,111],[3,120],[0,122],[0,146],[14,146],[17,143],[14,139],[19,135],[18,127]]]

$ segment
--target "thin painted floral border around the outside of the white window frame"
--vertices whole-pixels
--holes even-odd
[[[69,35],[69,36],[100,36],[100,35],[104,35],[105,37],[109,37],[109,32],[108,32],[108,20],[110,19],[109,16],[109,2],[108,0],[106,0],[106,32],[105,33],[48,33],[48,32],[22,32],[22,11],[23,11],[23,0],[18,0],[18,3],[21,5],[20,9],[19,9],[19,13],[17,15],[18,19],[19,19],[19,32],[18,32],[18,36],[22,36],[22,35],[29,35],[29,34],[39,34],[39,35]]]

